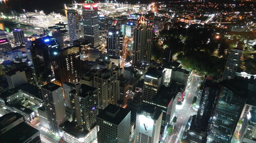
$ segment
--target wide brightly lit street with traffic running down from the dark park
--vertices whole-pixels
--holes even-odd
[[[191,103],[193,101],[193,98],[197,96],[200,76],[192,74],[189,80],[190,81],[188,82],[185,90],[185,99],[183,101],[182,108],[175,110],[174,116],[177,117],[177,122],[174,123],[174,130],[169,136],[164,139],[165,143],[180,142],[189,117],[196,114],[196,110],[193,109]]]

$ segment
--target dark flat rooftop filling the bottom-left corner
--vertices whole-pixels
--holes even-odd
[[[39,135],[39,131],[34,127],[23,122],[13,127],[11,130],[7,131],[3,135],[1,135],[0,140],[1,143],[23,143],[34,134]]]

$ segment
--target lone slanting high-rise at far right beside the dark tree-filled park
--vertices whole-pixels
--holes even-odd
[[[243,49],[232,49],[228,54],[227,63],[224,69],[222,79],[233,79],[240,66]]]

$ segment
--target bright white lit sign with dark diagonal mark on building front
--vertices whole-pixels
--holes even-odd
[[[154,120],[144,115],[139,115],[139,132],[152,137]]]

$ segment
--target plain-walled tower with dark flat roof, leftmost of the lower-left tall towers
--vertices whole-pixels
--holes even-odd
[[[62,88],[50,82],[41,87],[41,93],[45,103],[49,128],[52,132],[59,133],[59,125],[66,121]]]

